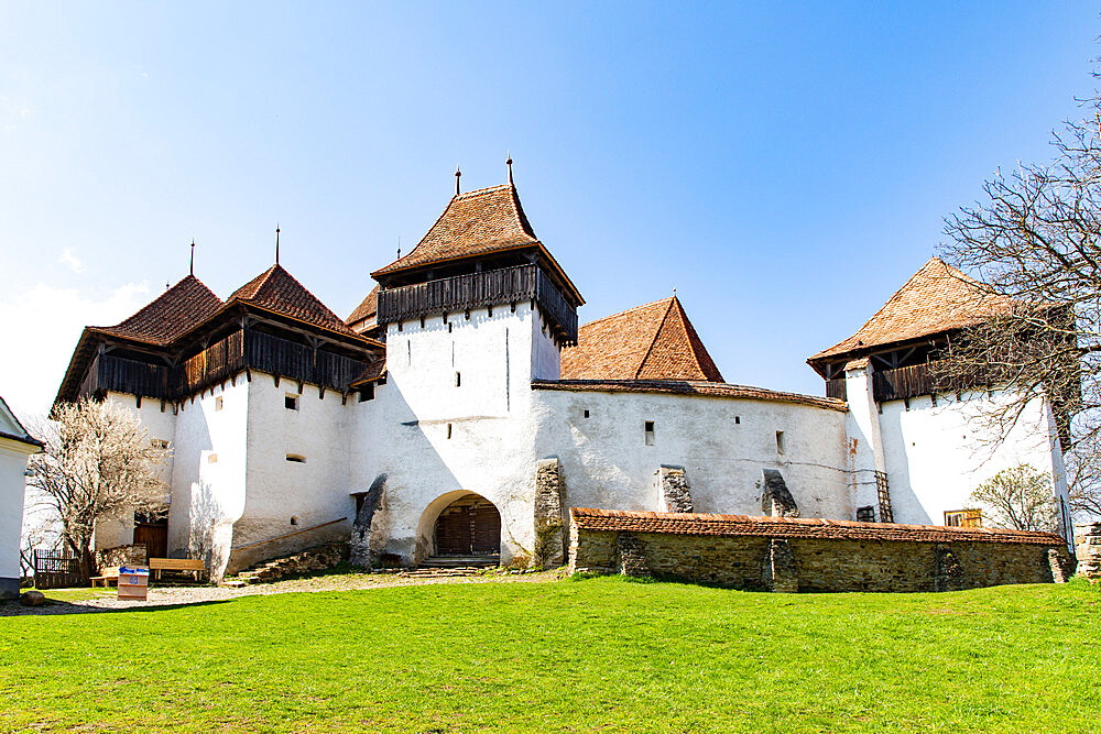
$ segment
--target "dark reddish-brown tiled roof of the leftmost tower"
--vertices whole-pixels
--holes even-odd
[[[164,346],[214,316],[222,303],[210,288],[188,275],[124,321],[92,331],[148,344]]]

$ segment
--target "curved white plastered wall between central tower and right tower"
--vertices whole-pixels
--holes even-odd
[[[687,472],[696,512],[760,515],[763,470],[778,469],[803,516],[851,516],[842,412],[655,393],[533,394],[536,453],[558,457],[567,506],[657,511],[655,475],[673,464]]]

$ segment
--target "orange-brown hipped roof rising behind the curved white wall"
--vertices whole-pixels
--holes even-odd
[[[562,377],[722,382],[676,296],[582,326],[562,352]]]

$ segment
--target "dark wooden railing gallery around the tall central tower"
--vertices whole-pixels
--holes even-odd
[[[379,292],[379,326],[521,300],[536,302],[558,327],[566,343],[577,343],[577,310],[538,265],[517,265],[385,288]]]

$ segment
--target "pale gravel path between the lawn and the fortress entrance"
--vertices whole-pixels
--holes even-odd
[[[266,594],[291,594],[317,591],[358,591],[364,589],[388,589],[391,587],[419,587],[433,583],[533,583],[557,581],[565,570],[541,571],[538,573],[504,573],[484,576],[417,577],[405,573],[342,573],[316,576],[305,579],[290,579],[274,583],[258,583],[240,589],[220,587],[154,587],[149,590],[144,602],[120,601],[115,591],[103,591],[101,595],[80,601],[50,601],[44,606],[23,606],[18,601],[0,602],[0,617],[25,614],[79,614],[109,612],[127,609],[149,609],[151,606],[177,606],[221,602],[241,596]],[[47,592],[48,593],[48,592]]]

